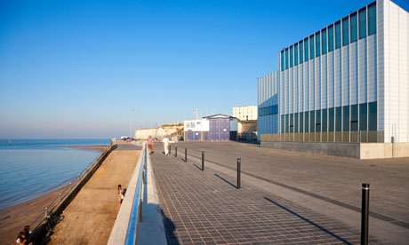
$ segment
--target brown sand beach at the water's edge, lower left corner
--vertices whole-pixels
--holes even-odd
[[[10,245],[17,234],[44,211],[64,187],[36,199],[0,210],[0,245]],[[34,227],[31,227],[34,228]]]

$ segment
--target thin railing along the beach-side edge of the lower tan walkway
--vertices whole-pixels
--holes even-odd
[[[45,207],[44,211],[41,212],[34,220],[33,222],[31,222],[30,227],[33,227],[33,225],[36,224],[36,227],[33,229],[33,231],[36,231],[36,229],[43,223],[44,220],[46,220],[46,218],[49,216],[50,213],[52,213],[52,211],[59,206],[60,202],[62,202],[64,200],[64,198],[70,193],[70,191],[72,190],[72,188],[74,186],[76,186],[76,184],[79,182],[79,180],[81,178],[84,177],[84,175],[86,175],[90,170],[92,170],[92,167],[100,161],[100,158],[102,157],[102,155],[106,154],[109,150],[110,146],[107,146],[104,151],[99,155],[96,156],[92,162],[90,162],[84,170],[82,170],[81,172],[78,173],[78,176],[76,178],[74,178],[72,181],[69,182],[69,186],[65,186],[64,189],[62,189],[62,191],[60,192],[60,194],[54,199],[52,200],[52,202]],[[58,201],[58,202],[57,202]],[[54,202],[57,202],[54,204]],[[53,205],[54,204],[54,205]]]

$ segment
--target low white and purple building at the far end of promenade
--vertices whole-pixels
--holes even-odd
[[[183,124],[185,141],[237,140],[237,118],[229,115],[210,115]]]

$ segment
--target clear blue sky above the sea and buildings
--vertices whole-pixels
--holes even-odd
[[[112,138],[131,108],[134,129],[256,105],[278,51],[371,2],[0,0],[0,138]]]

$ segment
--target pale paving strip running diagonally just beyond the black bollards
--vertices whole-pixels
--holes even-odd
[[[194,155],[189,155],[189,157],[192,162],[201,163],[202,161],[201,158]],[[217,170],[232,178],[236,177],[237,175],[236,170],[230,170],[213,162],[205,161],[205,165],[206,170],[208,170],[208,168]],[[311,209],[313,211],[316,211],[317,213],[323,214],[326,217],[340,220],[346,225],[357,228],[357,230],[360,230],[361,228],[360,212],[311,197],[307,194],[298,193],[283,186],[277,186],[260,178],[254,178],[243,172],[241,173],[241,178],[243,185],[245,185],[245,183],[249,183],[253,186],[261,188],[266,192],[277,194],[278,196],[281,196],[288,201],[297,203],[307,209]],[[360,186],[357,186],[357,188],[360,188]],[[407,241],[409,241],[408,229],[371,216],[369,217],[369,235],[388,240],[389,242],[391,242],[391,244],[407,244]]]

